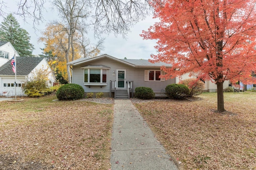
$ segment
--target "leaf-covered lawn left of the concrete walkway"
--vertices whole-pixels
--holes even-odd
[[[0,102],[0,169],[109,169],[113,105],[54,99]]]

